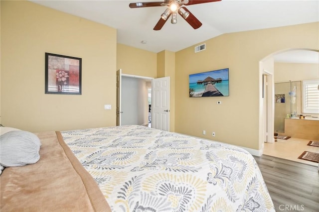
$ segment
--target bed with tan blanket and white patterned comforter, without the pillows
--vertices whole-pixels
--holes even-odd
[[[42,143],[40,160],[4,169],[0,178],[1,212],[25,209],[16,203],[31,205],[26,211],[275,211],[256,161],[239,147],[138,125],[35,134]],[[56,176],[57,171],[46,165],[57,151],[51,151],[53,144],[49,140],[57,144],[63,158],[63,162],[56,159],[59,165],[54,167],[68,164],[68,157],[74,157],[72,163],[78,164],[70,165],[70,171],[58,170],[60,175]],[[80,171],[74,171],[76,166]],[[42,191],[35,186],[44,178],[43,186],[47,187],[51,179],[46,178],[52,173],[56,182],[49,188]],[[93,183],[86,186],[77,176],[79,173],[89,173],[83,178]],[[66,185],[60,185],[64,177],[72,174]],[[24,185],[20,182],[25,180],[23,175],[37,177]],[[78,188],[78,184],[83,188]],[[55,190],[55,186],[59,189]],[[69,194],[73,190],[74,197]],[[52,199],[47,194],[50,192],[55,198],[62,197]],[[78,194],[81,198],[76,200]],[[71,203],[65,202],[69,195]],[[41,199],[42,196],[48,197]],[[32,208],[30,200],[43,207]],[[50,206],[46,207],[48,201]]]

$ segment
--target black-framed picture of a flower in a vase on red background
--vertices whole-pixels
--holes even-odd
[[[81,95],[82,58],[45,53],[45,94]]]

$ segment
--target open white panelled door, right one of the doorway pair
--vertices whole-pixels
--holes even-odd
[[[152,80],[152,128],[169,131],[169,77]]]

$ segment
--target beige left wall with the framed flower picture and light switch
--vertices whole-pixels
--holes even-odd
[[[29,131],[115,125],[116,48],[113,28],[1,0],[1,123]],[[82,58],[82,95],[44,94],[45,52]]]

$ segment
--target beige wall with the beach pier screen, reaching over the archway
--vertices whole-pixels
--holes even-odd
[[[259,61],[284,49],[318,50],[318,37],[316,22],[224,34],[202,42],[205,51],[176,52],[175,131],[259,150]],[[229,97],[188,97],[189,74],[222,68],[229,68]]]

